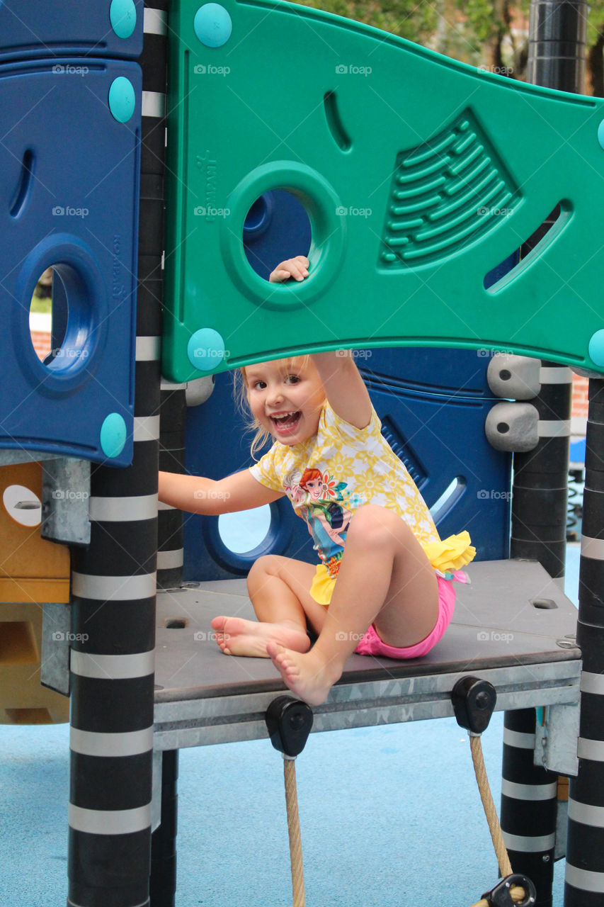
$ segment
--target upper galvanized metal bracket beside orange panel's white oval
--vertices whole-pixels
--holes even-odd
[[[90,462],[73,457],[44,461],[42,525],[44,539],[70,545],[90,544]]]

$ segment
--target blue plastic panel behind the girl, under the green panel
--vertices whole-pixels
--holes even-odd
[[[426,502],[433,507],[449,494],[434,513],[441,535],[467,529],[480,560],[508,557],[511,456],[493,450],[484,434],[495,402],[486,385],[488,358],[469,350],[414,348],[359,351],[359,356],[383,431]],[[473,395],[467,393],[470,387]],[[252,462],[249,441],[233,404],[232,375],[216,375],[209,400],[188,414],[187,469],[213,479],[245,469]],[[268,537],[245,554],[225,546],[218,518],[185,514],[184,578],[245,575],[268,551],[317,562],[307,526],[287,499],[271,504],[271,510]]]

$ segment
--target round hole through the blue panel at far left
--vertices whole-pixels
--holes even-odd
[[[38,359],[57,374],[84,366],[92,352],[88,291],[71,265],[45,268],[29,310],[29,331]]]

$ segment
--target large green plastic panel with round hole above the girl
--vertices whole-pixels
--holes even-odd
[[[174,2],[170,35],[165,375],[397,345],[604,372],[604,101],[272,0]],[[302,284],[244,254],[248,209],[277,188],[310,218]]]

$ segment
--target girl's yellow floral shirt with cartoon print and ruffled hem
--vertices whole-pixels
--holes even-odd
[[[459,569],[474,554],[468,533],[441,542],[424,498],[381,428],[373,409],[366,428],[356,428],[326,403],[314,437],[302,444],[275,442],[250,473],[267,488],[287,494],[307,522],[314,548],[332,577],[339,569],[349,522],[367,503],[398,513],[436,569]]]

